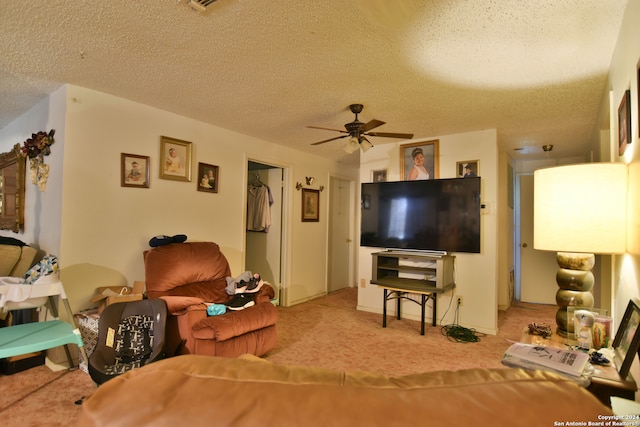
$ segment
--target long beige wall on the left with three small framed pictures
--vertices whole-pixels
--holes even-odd
[[[288,168],[285,225],[289,268],[284,287],[295,303],[326,290],[328,219],[301,223],[297,181],[315,176],[357,179],[353,168],[302,151],[238,134],[105,93],[68,85],[0,132],[0,148],[31,132],[56,129],[52,177],[46,193],[27,186],[26,230],[12,235],[60,257],[62,279],[74,310],[89,305],[97,286],[144,280],[142,252],[159,234],[211,240],[229,251],[232,274],[244,268],[247,159]],[[218,165],[219,192],[196,190],[196,182],[159,178],[160,136],[193,143],[198,162]],[[149,189],[120,186],[120,154],[151,158]],[[327,208],[328,190],[320,195]],[[310,245],[309,242],[314,242]]]

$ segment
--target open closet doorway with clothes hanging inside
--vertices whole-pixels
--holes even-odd
[[[251,160],[247,165],[247,206],[255,202],[253,197],[249,197],[250,191],[258,187],[266,191],[266,214],[269,217],[266,222],[269,225],[264,229],[255,229],[256,227],[245,224],[245,270],[260,274],[264,281],[271,284],[276,293],[277,303],[281,301],[280,290],[283,282],[284,174],[285,170],[279,166]]]

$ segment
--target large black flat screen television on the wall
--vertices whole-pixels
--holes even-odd
[[[480,253],[480,177],[363,183],[360,246]]]

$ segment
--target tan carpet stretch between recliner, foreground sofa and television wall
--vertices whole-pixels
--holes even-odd
[[[436,370],[503,368],[500,360],[531,322],[555,324],[556,306],[514,304],[499,315],[497,335],[478,342],[450,340],[440,326],[355,310],[356,289],[280,309],[278,345],[265,358],[276,363],[358,369],[387,375]],[[464,326],[464,325],[463,325]],[[481,334],[476,334],[481,335]]]

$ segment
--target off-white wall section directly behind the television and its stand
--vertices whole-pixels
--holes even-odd
[[[456,135],[425,138],[424,141],[439,140],[439,178],[454,178],[456,162],[479,160],[479,175],[482,177],[482,203],[487,205],[481,216],[482,245],[480,254],[456,253],[456,288],[438,297],[438,321],[447,310],[453,295],[464,297],[459,323],[481,332],[493,333],[498,328],[498,147],[495,129]],[[420,142],[413,140],[412,142]],[[406,143],[406,142],[405,142]],[[387,180],[398,181],[400,177],[400,144],[378,144],[361,156],[360,180],[371,181],[371,171],[388,169]],[[506,185],[506,184],[505,184]],[[506,203],[506,201],[504,201]],[[382,313],[382,290],[371,285],[371,253],[380,249],[360,248],[359,282],[365,287],[358,292],[358,309]],[[389,313],[395,307],[389,303]],[[442,324],[453,321],[453,304]],[[419,319],[417,304],[404,303],[403,317]],[[430,311],[428,310],[430,317]]]

